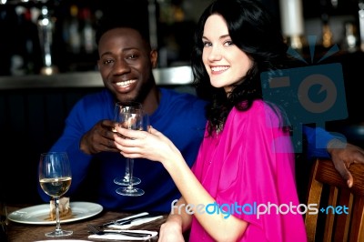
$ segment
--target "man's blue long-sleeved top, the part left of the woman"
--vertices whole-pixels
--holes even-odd
[[[206,102],[190,94],[177,93],[160,88],[161,99],[157,110],[149,116],[150,125],[161,131],[177,146],[188,166],[195,162],[205,126]],[[141,197],[124,197],[116,194],[116,176],[125,174],[125,158],[120,153],[102,152],[94,156],[83,153],[79,148],[81,137],[102,119],[114,119],[115,101],[108,90],[85,96],[73,107],[66,118],[62,136],[52,146],[52,151],[66,151],[72,166],[72,184],[67,192],[71,197],[85,179],[91,162],[100,162],[97,187],[89,187],[96,193],[96,202],[106,209],[144,210],[169,212],[174,199],[180,197],[172,178],[159,162],[135,159],[134,175],[142,182],[137,185],[145,190]],[[41,197],[49,197],[39,191]]]

